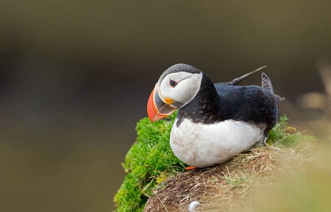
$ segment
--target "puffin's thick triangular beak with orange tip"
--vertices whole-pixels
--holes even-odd
[[[157,83],[147,102],[147,113],[151,122],[167,118],[176,111],[176,108],[172,108],[169,104],[162,101],[158,88],[159,86]],[[169,101],[168,99],[167,102]]]

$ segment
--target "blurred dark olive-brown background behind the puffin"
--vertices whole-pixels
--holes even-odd
[[[262,65],[291,124],[327,137],[330,1],[0,3],[0,211],[111,211],[135,123],[175,63]],[[259,74],[243,84],[260,84]]]

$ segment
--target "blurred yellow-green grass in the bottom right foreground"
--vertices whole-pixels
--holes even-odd
[[[331,211],[331,156],[329,143],[314,149],[319,153],[304,170],[287,171],[277,183],[256,186],[250,194],[251,202],[234,205],[233,212],[329,212]],[[301,162],[301,161],[300,161]],[[289,167],[296,168],[296,165]],[[222,211],[218,205],[217,211]]]

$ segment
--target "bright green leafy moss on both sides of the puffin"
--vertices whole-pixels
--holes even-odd
[[[170,131],[175,120],[173,114],[169,120],[151,123],[148,118],[141,119],[136,126],[137,139],[122,164],[127,175],[115,195],[116,211],[142,211],[157,182],[163,181],[169,173],[183,171],[186,164],[179,161],[170,149]],[[302,139],[311,139],[309,135],[287,133],[287,117],[269,132],[267,144],[278,147],[297,146]]]

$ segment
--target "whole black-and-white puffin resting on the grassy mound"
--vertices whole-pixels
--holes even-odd
[[[213,83],[198,68],[175,64],[166,69],[151,92],[147,113],[151,122],[178,110],[170,147],[186,170],[223,163],[254,145],[263,145],[277,123],[278,105],[270,79],[239,86],[263,66],[227,83]]]

